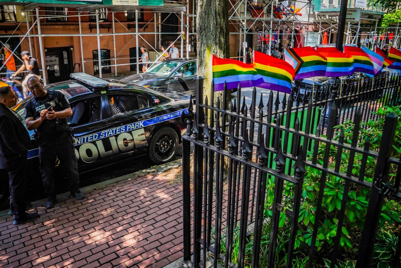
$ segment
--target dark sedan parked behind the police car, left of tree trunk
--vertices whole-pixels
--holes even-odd
[[[123,78],[140,86],[168,88],[195,96],[196,59],[168,59],[156,63],[143,74],[133,74]]]

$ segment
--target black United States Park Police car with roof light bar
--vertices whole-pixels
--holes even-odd
[[[75,155],[80,172],[137,155],[147,154],[157,164],[174,157],[186,127],[180,116],[188,113],[188,95],[174,91],[156,92],[128,82],[100,79],[84,73],[73,73],[71,78],[50,84],[45,89],[59,90],[71,104],[73,115],[68,122],[76,139]],[[14,107],[23,121],[24,107],[30,99],[31,96]],[[38,147],[33,134],[29,131],[33,148],[28,151],[27,188],[37,192],[43,190]],[[57,175],[63,177],[63,174]],[[0,170],[0,178],[0,207],[7,208],[8,176],[4,170]]]

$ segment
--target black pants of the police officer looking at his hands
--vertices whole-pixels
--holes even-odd
[[[47,197],[52,199],[56,197],[54,170],[57,156],[67,172],[70,191],[76,192],[79,188],[78,164],[74,146],[67,132],[58,137],[52,137],[51,140],[43,139],[39,142],[39,161],[43,187]]]

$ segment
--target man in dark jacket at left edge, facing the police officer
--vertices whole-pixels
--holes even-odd
[[[0,87],[0,168],[7,170],[10,180],[14,225],[38,217],[36,212],[25,212],[26,155],[30,138],[28,131],[18,119],[20,115],[11,109],[17,100],[14,90],[8,86]]]

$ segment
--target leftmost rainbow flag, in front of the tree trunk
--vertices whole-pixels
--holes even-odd
[[[241,87],[257,86],[263,82],[252,64],[236,59],[221,59],[213,55],[212,72],[215,91],[224,90],[224,82],[227,82],[227,89],[237,88],[238,85]]]

